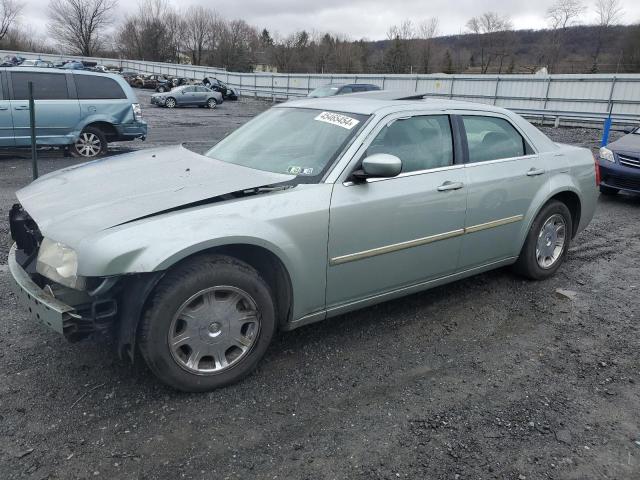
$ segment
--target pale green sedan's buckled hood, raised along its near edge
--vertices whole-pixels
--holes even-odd
[[[45,237],[73,247],[87,235],[116,225],[294,178],[175,146],[59,170],[16,195]]]

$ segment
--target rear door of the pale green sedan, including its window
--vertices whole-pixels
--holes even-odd
[[[473,112],[457,117],[468,147],[468,208],[460,269],[519,254],[523,220],[548,188],[548,172],[531,143],[507,117]]]

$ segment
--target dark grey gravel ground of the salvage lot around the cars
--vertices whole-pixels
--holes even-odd
[[[202,151],[267,107],[147,107],[147,142],[116,151]],[[45,153],[42,171],[75,162]],[[25,158],[0,159],[1,479],[640,478],[640,197],[601,197],[549,281],[498,270],[281,333],[241,384],[187,395],[17,308],[4,219]]]

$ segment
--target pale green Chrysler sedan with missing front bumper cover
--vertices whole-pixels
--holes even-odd
[[[206,391],[279,329],[507,265],[558,270],[594,213],[588,150],[500,108],[361,95],[278,105],[205,155],[36,180],[10,213],[18,298],[69,340],[112,334]]]

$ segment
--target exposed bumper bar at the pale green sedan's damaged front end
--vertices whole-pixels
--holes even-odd
[[[43,323],[56,332],[64,335],[74,320],[80,318],[75,309],[55,298],[51,292],[40,288],[31,280],[27,272],[16,260],[16,246],[9,252],[9,271],[13,281],[13,291],[18,302],[25,308],[31,318]]]

